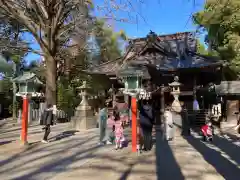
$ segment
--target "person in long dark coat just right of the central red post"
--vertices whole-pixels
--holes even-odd
[[[139,124],[143,135],[143,145],[145,151],[152,149],[152,128],[154,123],[153,109],[147,101],[143,101],[140,108]]]

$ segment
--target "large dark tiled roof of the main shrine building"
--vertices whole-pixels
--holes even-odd
[[[127,64],[151,64],[158,69],[173,70],[206,67],[219,62],[197,54],[196,47],[196,36],[191,32],[157,36],[153,42],[148,38],[132,39],[124,57],[103,63],[90,71],[114,75]]]

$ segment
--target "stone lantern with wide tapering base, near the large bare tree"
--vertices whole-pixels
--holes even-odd
[[[83,81],[82,86],[77,89],[80,92],[79,95],[82,97],[82,101],[75,110],[75,115],[72,118],[72,126],[77,131],[96,128],[97,119],[94,116],[92,107],[88,104],[87,98],[90,87],[86,81]]]

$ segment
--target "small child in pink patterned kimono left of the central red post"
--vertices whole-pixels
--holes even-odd
[[[114,133],[115,133],[115,143],[116,143],[116,147],[115,149],[121,149],[122,148],[122,143],[124,140],[124,136],[123,136],[123,123],[120,120],[120,116],[119,113],[117,111],[113,112],[113,117],[114,117]]]

